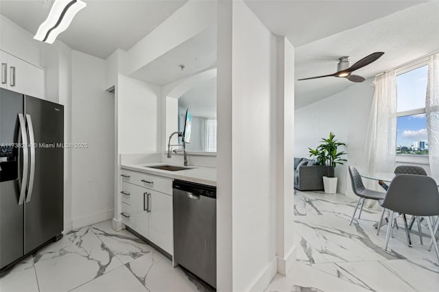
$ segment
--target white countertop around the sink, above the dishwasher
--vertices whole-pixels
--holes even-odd
[[[198,167],[196,165],[189,165],[187,166],[188,169],[181,171],[166,171],[162,169],[150,168],[157,165],[184,167],[182,165],[174,165],[165,162],[148,162],[142,163],[141,165],[121,165],[121,169],[140,171],[152,175],[164,176],[166,178],[174,178],[176,180],[185,180],[187,182],[195,182],[197,184],[206,184],[208,186],[217,186],[217,169],[214,167]]]

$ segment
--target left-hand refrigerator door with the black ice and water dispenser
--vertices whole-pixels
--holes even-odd
[[[24,204],[19,205],[19,180],[23,175],[19,114],[23,114],[23,95],[0,89],[0,268],[23,256]]]

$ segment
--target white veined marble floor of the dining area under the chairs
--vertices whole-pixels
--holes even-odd
[[[399,217],[386,252],[387,225],[379,236],[374,227],[379,210],[365,208],[361,219],[357,212],[349,226],[354,199],[296,191],[294,203],[297,261],[267,291],[439,291],[436,254],[428,252],[425,233],[420,245],[416,224],[409,247]]]

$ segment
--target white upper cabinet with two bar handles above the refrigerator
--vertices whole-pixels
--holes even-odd
[[[44,69],[0,51],[1,88],[44,99]]]

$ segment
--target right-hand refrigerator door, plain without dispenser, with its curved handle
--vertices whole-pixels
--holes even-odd
[[[29,178],[29,182],[33,180],[33,188],[28,188],[25,203],[27,253],[63,230],[64,149],[57,144],[64,141],[64,108],[29,96],[25,96],[25,108],[27,132],[33,134],[36,144],[29,163],[31,169],[34,164]]]

